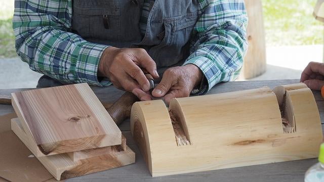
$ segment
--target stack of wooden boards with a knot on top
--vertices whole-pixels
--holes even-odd
[[[135,162],[87,83],[13,93],[12,105],[12,130],[57,180]]]

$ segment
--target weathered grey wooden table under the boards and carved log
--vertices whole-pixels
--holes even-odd
[[[210,90],[208,94],[233,92],[237,90],[298,83],[299,80],[264,80],[264,81],[233,81],[220,83]],[[115,102],[124,92],[112,86],[105,88],[92,87],[95,94],[105,103]],[[0,95],[8,95],[24,89],[0,89]],[[319,92],[313,92],[321,117],[324,123],[324,102]],[[13,113],[11,105],[0,105],[0,115]],[[323,128],[323,127],[322,127]],[[128,166],[110,169],[102,172],[88,174],[67,179],[66,181],[304,181],[306,170],[317,162],[317,159],[279,162],[255,166],[219,169],[205,172],[171,175],[164,177],[151,177],[143,157],[134,143],[130,133],[130,122],[120,125],[121,131],[127,138],[129,147],[136,153],[136,163]],[[1,162],[0,162],[1,165]]]

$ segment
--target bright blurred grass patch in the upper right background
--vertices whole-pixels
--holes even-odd
[[[313,17],[317,0],[262,0],[267,45],[322,44],[324,26]]]

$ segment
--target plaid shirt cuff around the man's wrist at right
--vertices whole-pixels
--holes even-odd
[[[210,59],[201,56],[191,57],[190,59],[186,60],[183,65],[187,64],[196,65],[204,74],[204,78],[201,80],[198,92],[192,93],[192,95],[204,95],[220,81],[221,72],[214,65],[215,63]]]

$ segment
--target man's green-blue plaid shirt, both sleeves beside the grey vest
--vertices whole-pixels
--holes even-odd
[[[72,0],[16,0],[13,29],[16,50],[30,69],[68,82],[109,85],[98,79],[100,57],[107,45],[71,33]],[[244,0],[199,0],[190,56],[185,64],[203,71],[206,91],[235,79],[247,49]]]

